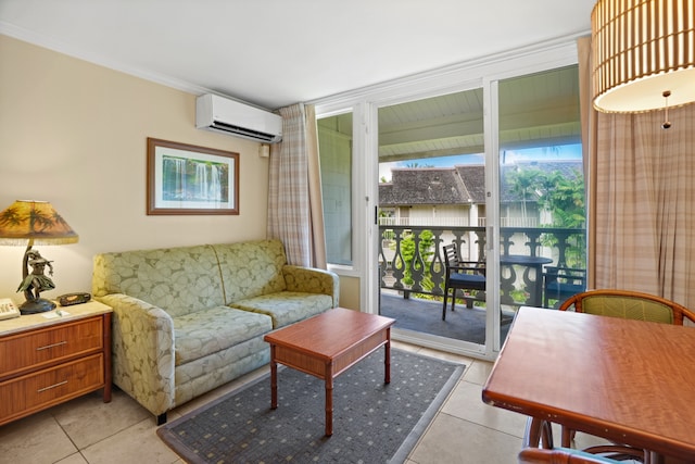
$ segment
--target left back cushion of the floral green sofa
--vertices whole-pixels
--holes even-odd
[[[98,254],[92,292],[129,294],[172,317],[225,304],[217,255],[208,244]]]

